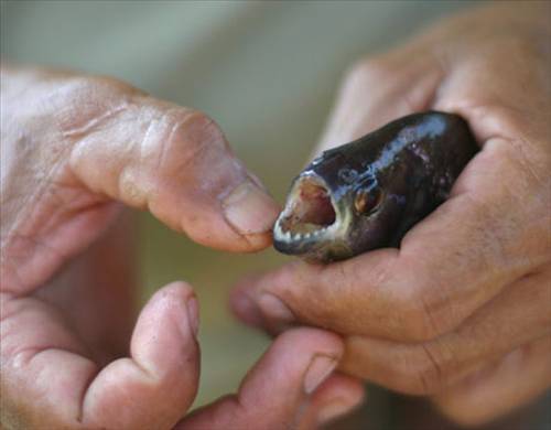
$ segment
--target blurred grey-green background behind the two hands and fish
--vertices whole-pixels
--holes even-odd
[[[1,55],[23,64],[116,76],[156,97],[204,110],[283,202],[323,131],[346,69],[469,4],[2,1]],[[199,298],[203,370],[195,406],[234,391],[269,340],[231,316],[229,288],[244,275],[285,258],[273,250],[234,256],[205,249],[147,214],[140,214],[140,235],[142,300],[175,279],[191,282]],[[409,429],[399,422],[425,408],[420,400],[369,390],[365,410],[335,429]],[[447,428],[431,422],[436,426],[431,428]]]

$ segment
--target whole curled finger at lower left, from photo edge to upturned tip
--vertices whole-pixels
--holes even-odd
[[[132,334],[130,357],[102,369],[62,315],[39,299],[2,297],[2,318],[6,428],[166,429],[195,397],[198,316],[184,283],[151,298]]]

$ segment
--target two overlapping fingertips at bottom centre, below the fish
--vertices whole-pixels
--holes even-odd
[[[315,329],[289,331],[274,341],[249,372],[237,395],[197,410],[176,428],[314,428],[318,419],[327,419],[331,412],[323,417],[322,407],[339,401],[341,410],[331,412],[336,417],[361,401],[363,388],[358,381],[347,377],[331,379],[342,354],[342,341],[334,334]],[[309,410],[310,405],[318,410]]]

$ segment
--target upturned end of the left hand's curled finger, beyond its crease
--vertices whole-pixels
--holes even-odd
[[[86,391],[83,422],[120,429],[176,422],[197,390],[197,330],[198,304],[190,287],[175,282],[158,291],[136,325],[131,358],[109,364]]]

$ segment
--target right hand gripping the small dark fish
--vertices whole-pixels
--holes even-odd
[[[456,112],[482,151],[400,249],[292,262],[236,289],[236,313],[280,332],[346,335],[342,370],[431,395],[482,423],[551,385],[549,4],[493,4],[359,63],[318,150],[428,109]]]

